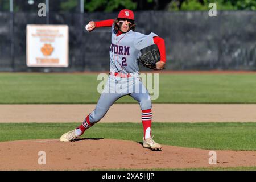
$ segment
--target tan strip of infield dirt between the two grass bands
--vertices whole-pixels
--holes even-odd
[[[0,123],[82,122],[95,106],[0,105]],[[256,122],[255,110],[256,104],[152,104],[153,122]],[[100,122],[141,122],[141,109],[138,104],[114,104]]]

